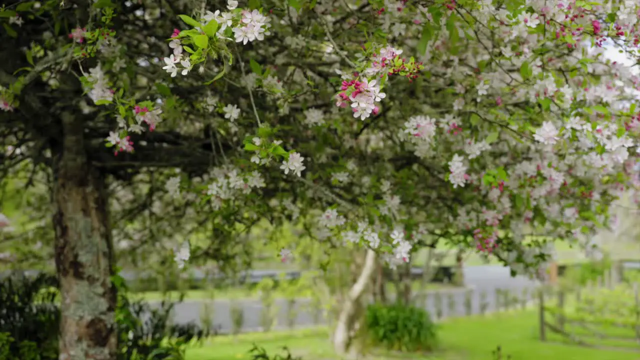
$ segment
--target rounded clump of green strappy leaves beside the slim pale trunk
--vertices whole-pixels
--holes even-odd
[[[372,304],[365,315],[371,345],[388,350],[430,351],[436,345],[436,325],[425,309],[400,304]]]

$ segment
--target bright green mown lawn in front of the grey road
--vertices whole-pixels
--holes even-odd
[[[513,360],[637,360],[637,352],[597,350],[574,345],[541,343],[538,340],[536,311],[499,313],[490,316],[457,318],[440,325],[440,350],[433,354],[391,354],[378,352],[369,360],[492,360],[492,351],[502,346],[503,354]],[[287,346],[303,360],[337,360],[331,350],[326,329],[244,334],[218,337],[201,347],[190,348],[186,360],[252,359],[248,350],[253,343],[275,354]],[[559,338],[550,337],[551,341]]]

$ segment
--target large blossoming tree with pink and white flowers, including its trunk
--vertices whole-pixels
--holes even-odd
[[[639,10],[630,0],[5,8],[3,128],[24,134],[32,157],[48,149],[56,179],[62,354],[108,359],[115,348],[105,174],[183,168],[167,187],[203,199],[227,234],[246,219],[321,214],[308,230],[328,252],[365,249],[339,352],[378,254],[393,265],[446,239],[536,270],[550,239],[608,226],[609,204],[639,185],[640,78],[603,55],[637,57]]]

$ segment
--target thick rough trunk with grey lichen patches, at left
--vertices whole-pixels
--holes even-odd
[[[55,149],[53,225],[60,278],[60,360],[116,358],[116,289],[104,179],[84,149],[82,120],[65,113]]]

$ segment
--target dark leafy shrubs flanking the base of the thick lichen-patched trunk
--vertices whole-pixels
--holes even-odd
[[[192,340],[207,336],[194,323],[171,323],[173,304],[159,308],[127,298],[122,277],[118,288],[118,360],[177,360]],[[0,279],[0,359],[57,360],[60,309],[55,275]]]

